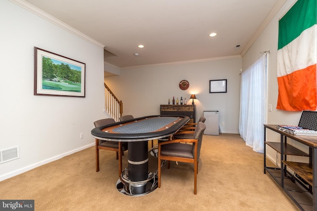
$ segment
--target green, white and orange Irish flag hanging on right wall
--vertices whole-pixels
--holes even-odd
[[[317,0],[298,0],[278,22],[277,109],[316,110]]]

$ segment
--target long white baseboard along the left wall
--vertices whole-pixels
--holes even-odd
[[[49,159],[46,159],[46,160],[44,160],[44,161],[41,161],[41,162],[38,162],[38,163],[35,163],[35,164],[32,164],[32,165],[23,167],[23,168],[21,168],[21,169],[17,169],[17,170],[14,170],[14,171],[11,171],[11,172],[8,172],[8,173],[5,173],[5,174],[1,174],[1,175],[0,175],[0,181],[5,180],[5,179],[8,179],[8,178],[10,178],[10,177],[12,177],[12,176],[16,176],[16,175],[18,175],[18,174],[24,173],[24,172],[26,172],[26,171],[28,171],[28,170],[35,169],[35,168],[40,167],[40,166],[42,166],[42,165],[44,165],[44,164],[51,163],[51,162],[53,162],[53,161],[56,161],[56,160],[58,160],[58,159],[61,159],[61,158],[65,157],[65,156],[67,156],[67,155],[71,155],[71,154],[73,154],[73,153],[75,153],[75,152],[79,152],[79,151],[81,151],[81,150],[87,149],[87,148],[92,147],[92,146],[94,146],[94,145],[95,145],[95,142],[94,142],[94,143],[91,143],[91,144],[88,144],[88,145],[86,145],[86,146],[83,146],[83,147],[80,147],[80,148],[77,148],[77,149],[74,149],[74,150],[65,152],[65,153],[63,153],[63,154],[54,156],[54,157],[49,158]]]

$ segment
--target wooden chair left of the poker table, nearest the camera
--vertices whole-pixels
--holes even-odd
[[[104,125],[109,125],[115,123],[115,121],[111,118],[97,120],[94,122],[95,127],[100,127]],[[115,151],[116,160],[119,160],[119,177],[121,176],[122,172],[122,155],[123,152],[128,150],[128,143],[127,142],[120,142],[120,141],[105,141],[96,138],[96,172],[99,171],[99,150],[110,150]]]

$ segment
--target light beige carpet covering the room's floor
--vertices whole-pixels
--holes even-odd
[[[171,162],[162,168],[161,188],[140,197],[120,194],[115,187],[115,153],[101,150],[100,171],[95,148],[66,156],[0,182],[0,199],[34,199],[36,211],[297,211],[269,174],[263,154],[238,134],[204,135],[197,195],[192,164]],[[149,170],[157,159],[149,156]],[[127,167],[127,152],[123,167]]]

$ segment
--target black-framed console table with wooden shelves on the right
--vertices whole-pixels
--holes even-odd
[[[266,140],[266,129],[280,134],[280,142]],[[287,143],[287,138],[309,147],[309,154]],[[280,154],[280,168],[266,166],[266,145]],[[287,156],[309,157],[309,163],[291,162]],[[290,170],[294,173],[291,173]],[[302,211],[317,210],[317,136],[292,135],[276,125],[264,125],[264,173],[268,172]]]

